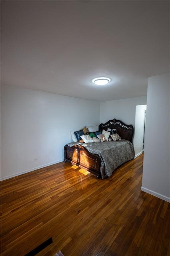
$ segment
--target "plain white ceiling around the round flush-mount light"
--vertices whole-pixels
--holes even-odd
[[[82,99],[147,94],[169,72],[169,1],[1,1],[1,82]],[[105,86],[95,77],[107,76]]]

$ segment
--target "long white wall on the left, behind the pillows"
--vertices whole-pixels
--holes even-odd
[[[70,131],[100,123],[98,102],[15,86],[1,90],[1,179],[62,161]]]

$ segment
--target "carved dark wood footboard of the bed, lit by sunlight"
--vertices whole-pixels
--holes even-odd
[[[89,172],[95,174],[97,178],[101,178],[100,157],[96,154],[90,153],[81,145],[74,145],[72,147],[64,146],[64,161],[70,162],[81,168],[87,169]]]

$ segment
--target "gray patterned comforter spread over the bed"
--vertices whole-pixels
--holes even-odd
[[[71,142],[67,145],[72,147],[75,144],[80,144],[90,153],[100,156],[102,178],[110,177],[117,167],[134,158],[133,145],[128,140],[104,141],[100,143]]]

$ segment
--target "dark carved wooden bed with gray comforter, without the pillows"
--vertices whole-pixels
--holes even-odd
[[[71,142],[64,146],[64,161],[70,162],[99,178],[110,177],[113,171],[134,158],[132,138],[134,129],[120,120],[109,120],[99,130],[116,129],[121,140],[102,143]]]

